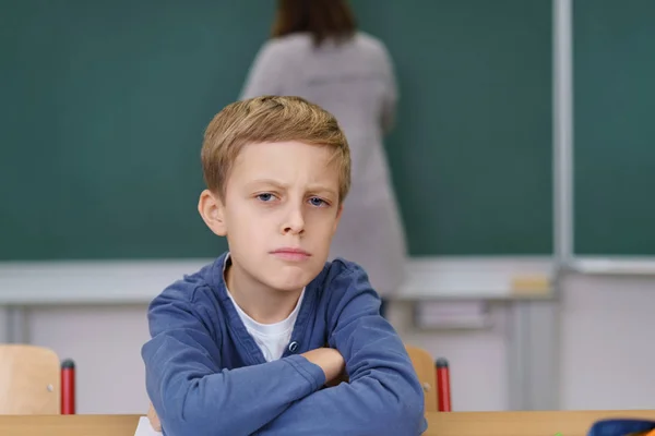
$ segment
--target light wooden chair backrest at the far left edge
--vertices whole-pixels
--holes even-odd
[[[0,414],[59,414],[59,358],[49,349],[0,344]]]

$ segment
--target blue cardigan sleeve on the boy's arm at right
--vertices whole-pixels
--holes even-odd
[[[353,264],[350,264],[353,265]],[[427,428],[424,392],[366,272],[348,266],[335,277],[330,347],[346,361],[349,383],[297,401],[257,435],[419,435]]]

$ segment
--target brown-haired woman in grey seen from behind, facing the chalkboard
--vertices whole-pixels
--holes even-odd
[[[382,138],[394,121],[396,80],[382,41],[359,32],[346,0],[278,0],[241,98],[296,95],[332,112],[353,159],[331,257],[361,265],[384,302],[398,289],[405,234]]]

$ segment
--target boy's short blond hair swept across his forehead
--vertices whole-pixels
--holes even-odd
[[[334,116],[300,97],[261,96],[226,106],[207,125],[202,171],[207,189],[225,198],[229,171],[247,144],[297,141],[333,148],[338,201],[350,189],[350,150]]]

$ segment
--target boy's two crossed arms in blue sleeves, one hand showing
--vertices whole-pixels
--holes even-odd
[[[366,276],[364,277],[366,280]],[[418,435],[422,389],[368,281],[338,299],[329,348],[225,370],[193,306],[160,302],[143,348],[147,393],[167,435]],[[338,288],[338,287],[337,287]],[[348,383],[322,389],[344,368]],[[153,417],[155,414],[152,414]],[[156,424],[156,419],[154,419]]]

